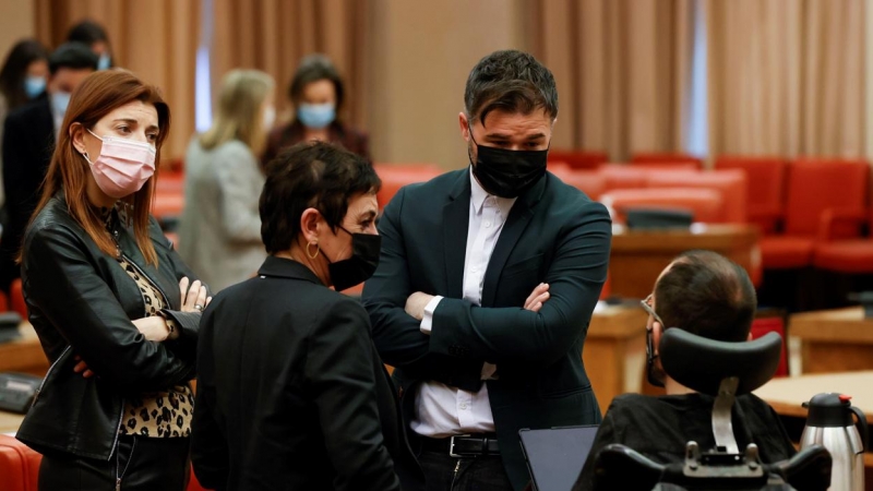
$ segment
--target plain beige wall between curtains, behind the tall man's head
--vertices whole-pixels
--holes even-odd
[[[457,115],[467,74],[491,51],[527,48],[524,0],[371,1],[373,159],[465,166]]]

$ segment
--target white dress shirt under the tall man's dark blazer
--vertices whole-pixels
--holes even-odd
[[[473,176],[473,168],[470,187],[470,220],[467,229],[467,253],[464,256],[464,300],[479,306],[482,301],[482,282],[488,261],[516,199],[488,194]],[[434,297],[424,308],[421,320],[421,332],[424,334],[431,332],[433,311],[440,300],[442,297]],[[495,371],[497,367],[485,363],[482,380],[490,379]],[[430,438],[493,432],[494,417],[488,400],[488,386],[482,384],[479,392],[468,392],[435,381],[422,383],[416,394],[410,428],[416,433]]]

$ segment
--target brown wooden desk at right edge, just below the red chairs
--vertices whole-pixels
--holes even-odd
[[[793,314],[788,330],[801,340],[803,373],[873,370],[873,320],[861,307]]]

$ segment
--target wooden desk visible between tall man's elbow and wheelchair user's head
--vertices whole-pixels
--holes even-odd
[[[606,414],[617,395],[643,388],[646,312],[635,304],[598,307],[582,350],[585,371]]]

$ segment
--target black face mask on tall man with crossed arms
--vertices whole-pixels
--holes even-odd
[[[467,127],[473,137],[473,128]],[[545,151],[510,151],[493,146],[482,146],[476,143],[476,163],[468,154],[473,164],[473,175],[482,184],[489,194],[500,197],[516,197],[534,187],[546,175],[546,158],[549,149]]]

